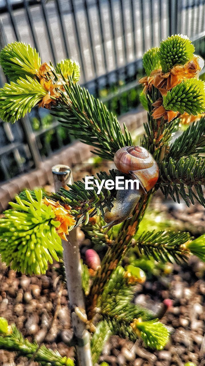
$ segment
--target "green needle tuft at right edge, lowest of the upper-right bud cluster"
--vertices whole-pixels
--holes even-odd
[[[205,111],[205,83],[188,79],[173,87],[163,96],[163,107],[167,111],[184,112],[197,116]]]

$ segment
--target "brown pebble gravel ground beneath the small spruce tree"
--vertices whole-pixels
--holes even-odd
[[[93,171],[84,166],[74,172],[74,179],[86,173]],[[200,205],[187,209],[183,204],[176,206],[173,201],[165,204],[157,194],[151,206],[165,212],[168,219],[174,218],[176,228],[189,230],[192,235],[205,232],[204,209]],[[90,245],[88,239],[82,243]],[[186,266],[174,265],[169,275],[152,277],[144,285],[138,285],[135,303],[146,304],[154,310],[160,308],[166,298],[173,300],[173,306],[162,318],[171,331],[170,341],[163,351],[146,350],[141,340],[133,344],[112,336],[100,361],[112,366],[183,366],[187,361],[205,365],[205,352],[200,353],[205,332],[205,265],[195,257]],[[0,316],[9,323],[15,322],[29,340],[36,339],[39,344],[58,349],[62,356],[72,357],[72,348],[66,346],[72,333],[67,303],[67,291],[52,266],[46,276],[27,277],[0,263]],[[0,366],[15,365],[37,366],[14,352],[0,350]]]

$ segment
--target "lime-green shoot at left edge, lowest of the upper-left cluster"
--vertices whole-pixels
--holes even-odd
[[[19,78],[16,83],[5,84],[0,89],[0,117],[5,122],[15,123],[48,93],[30,76]]]

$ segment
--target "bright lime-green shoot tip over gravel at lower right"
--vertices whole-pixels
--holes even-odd
[[[134,321],[134,329],[139,331],[145,346],[154,350],[162,350],[169,341],[169,330],[158,319]]]

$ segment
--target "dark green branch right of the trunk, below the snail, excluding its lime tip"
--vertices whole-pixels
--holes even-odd
[[[134,236],[139,256],[146,255],[163,263],[175,261],[178,264],[186,259],[180,246],[189,239],[190,235],[187,232],[164,230],[146,231]]]

